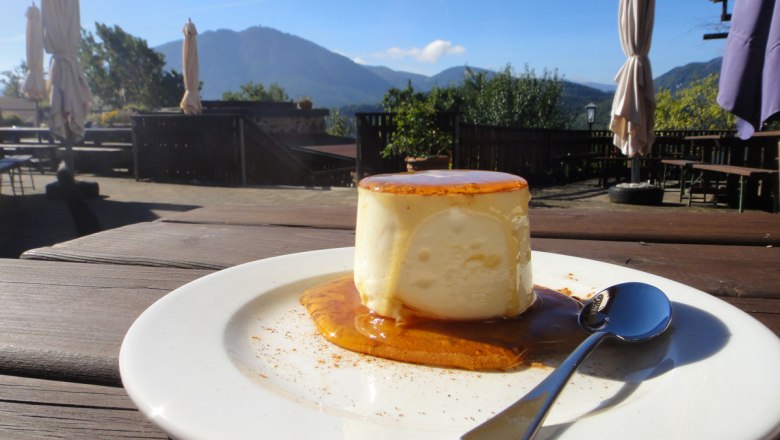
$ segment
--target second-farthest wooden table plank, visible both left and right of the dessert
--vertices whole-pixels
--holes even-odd
[[[351,246],[341,229],[152,222],[26,252],[29,259],[221,269],[281,254]],[[718,296],[780,297],[780,248],[532,238],[535,250],[592,258]]]

